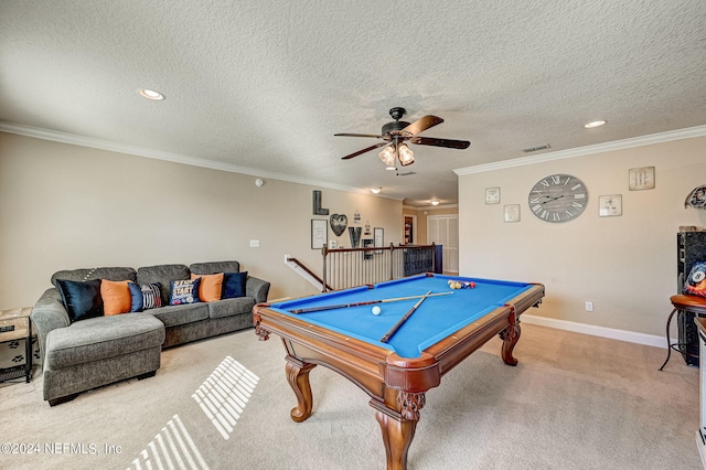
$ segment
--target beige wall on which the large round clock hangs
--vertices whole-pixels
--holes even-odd
[[[629,191],[629,169],[652,165],[655,189]],[[550,224],[531,213],[530,189],[554,173],[586,183],[589,205],[579,218]],[[706,211],[684,209],[684,200],[704,183],[706,138],[464,174],[460,271],[544,284],[546,298],[532,314],[662,335],[677,290],[678,227],[706,226]],[[485,205],[489,186],[501,186],[501,204]],[[603,194],[622,194],[622,216],[599,217]],[[521,222],[503,222],[505,204],[521,205]]]

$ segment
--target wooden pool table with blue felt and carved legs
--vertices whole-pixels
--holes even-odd
[[[449,280],[474,287],[451,289]],[[418,303],[425,295],[429,297]],[[502,360],[517,364],[512,352],[520,339],[518,317],[543,297],[541,284],[425,274],[259,303],[253,314],[260,340],[277,334],[285,344],[286,376],[298,402],[291,418],[300,423],[311,415],[309,373],[317,365],[327,366],[370,395],[387,469],[397,470],[407,466],[425,393],[495,334],[503,340]],[[399,298],[406,300],[387,301]],[[372,303],[378,300],[385,301]],[[379,314],[372,312],[375,306]],[[386,335],[389,339],[382,341]]]

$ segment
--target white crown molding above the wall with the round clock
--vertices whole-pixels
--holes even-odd
[[[556,152],[543,153],[534,157],[523,157],[503,160],[493,163],[478,164],[453,170],[459,177],[464,174],[484,173],[486,171],[504,170],[514,167],[542,163],[545,161],[561,160],[567,158],[584,157],[593,153],[623,150],[634,147],[651,146],[653,143],[670,142],[672,140],[692,139],[694,137],[705,137],[706,126],[689,127],[686,129],[671,130],[667,132],[652,133],[649,136],[634,137],[631,139],[614,140],[612,142],[598,143],[595,146],[578,147],[576,149],[559,150]]]

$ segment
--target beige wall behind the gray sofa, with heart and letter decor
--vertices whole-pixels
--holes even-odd
[[[0,309],[32,306],[60,269],[236,259],[270,298],[314,293],[285,255],[321,271],[312,190],[402,239],[402,202],[0,132]],[[334,235],[329,229],[329,239]],[[259,239],[259,248],[249,241]],[[351,246],[347,234],[338,237]]]

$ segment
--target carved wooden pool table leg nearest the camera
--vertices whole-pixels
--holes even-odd
[[[398,414],[377,400],[371,400],[371,406],[377,412],[375,418],[383,431],[385,453],[387,455],[387,470],[406,470],[407,453],[415,437],[419,410],[425,405],[425,394],[399,392],[397,403],[402,406]]]

